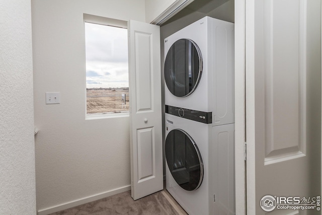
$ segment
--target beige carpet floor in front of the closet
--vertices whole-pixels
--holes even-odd
[[[137,215],[179,215],[169,202],[165,191],[159,191],[134,201],[131,191],[119,193],[107,198],[82,204],[50,215],[107,215],[107,214],[137,214]],[[171,199],[170,199],[171,201]]]

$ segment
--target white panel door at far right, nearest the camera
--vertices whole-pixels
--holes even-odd
[[[313,142],[307,141],[306,134],[310,122],[306,117],[310,105],[306,102],[306,78],[310,67],[315,66],[307,64],[308,53],[314,54],[307,49],[308,3],[246,2],[248,214],[266,214],[262,206],[269,210],[274,204],[291,204],[292,197],[314,197],[308,192],[308,167],[313,164],[307,154]],[[266,195],[272,197],[263,198]],[[291,198],[274,202],[278,197]],[[307,212],[277,206],[269,214]]]

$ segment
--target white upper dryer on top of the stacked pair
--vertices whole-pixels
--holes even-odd
[[[234,25],[204,17],[165,39],[165,104],[234,121]]]

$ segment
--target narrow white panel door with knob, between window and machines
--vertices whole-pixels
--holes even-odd
[[[163,189],[159,26],[130,20],[131,189],[134,200]]]

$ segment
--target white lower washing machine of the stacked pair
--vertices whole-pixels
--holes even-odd
[[[233,123],[166,113],[166,188],[188,214],[234,214],[233,148]]]

